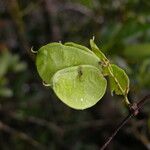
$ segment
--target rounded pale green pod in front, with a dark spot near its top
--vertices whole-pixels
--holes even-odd
[[[53,89],[59,99],[74,109],[95,105],[106,91],[107,81],[94,66],[81,65],[56,72]]]

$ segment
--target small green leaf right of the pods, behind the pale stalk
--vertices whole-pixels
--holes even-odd
[[[114,77],[116,78],[118,84],[120,85],[120,89],[118,84],[116,83],[115,79],[109,75],[110,81],[110,89],[111,93],[115,92],[117,95],[127,95],[129,91],[129,78],[125,71],[120,67],[112,64],[111,65],[111,72],[113,73]]]

